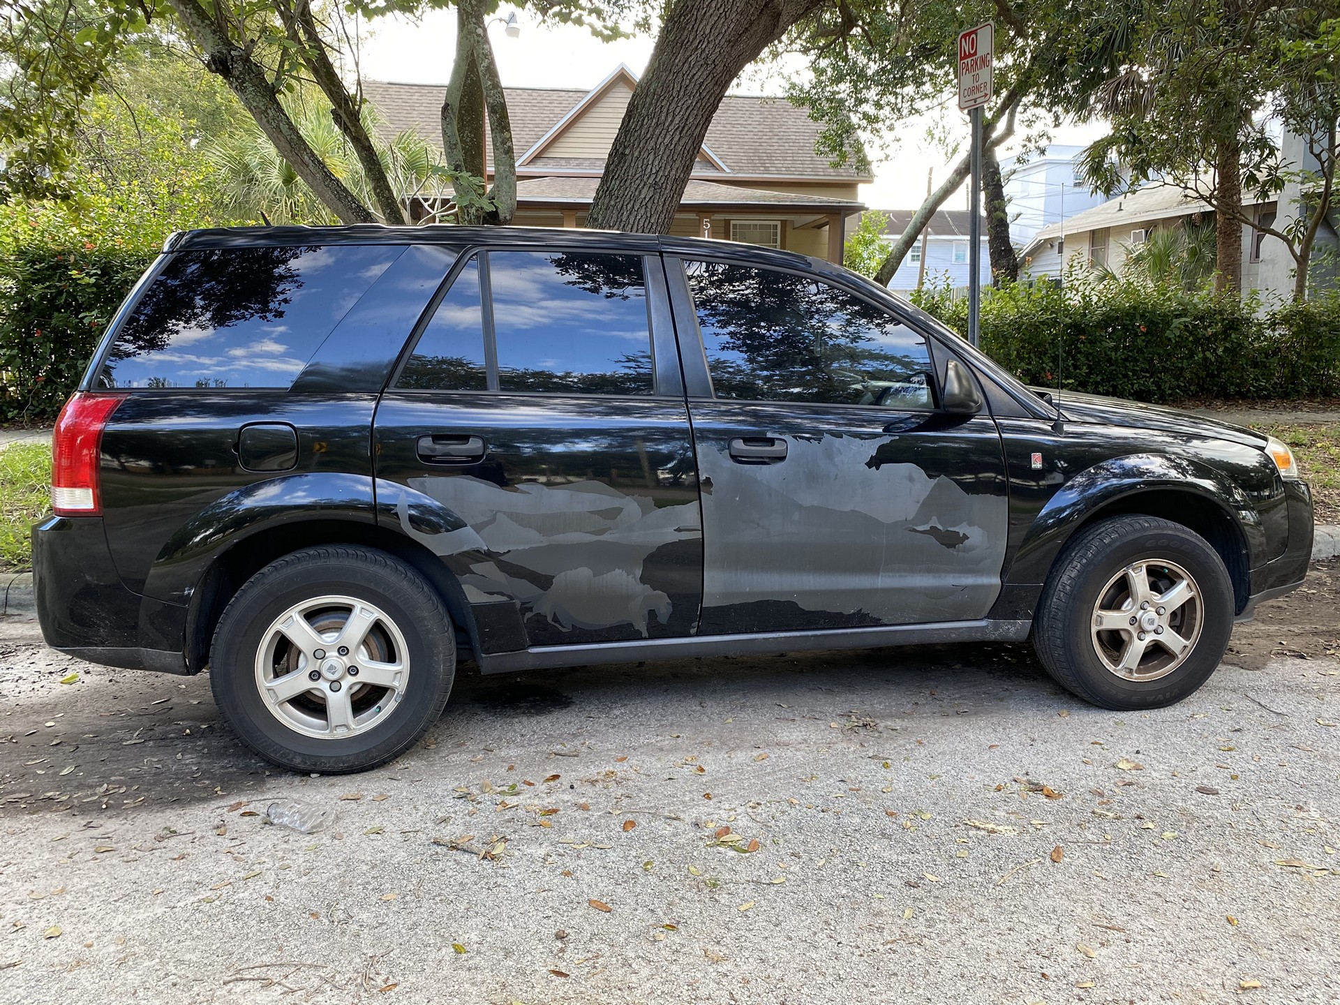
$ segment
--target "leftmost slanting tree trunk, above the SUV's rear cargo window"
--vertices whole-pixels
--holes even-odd
[[[241,47],[233,44],[228,31],[216,21],[198,0],[169,0],[182,25],[205,55],[205,66],[218,74],[237,95],[237,100],[256,119],[280,157],[288,161],[297,177],[340,222],[377,222],[373,212],[335,177],[326,162],[303,138],[293,121],[275,96],[275,88]]]

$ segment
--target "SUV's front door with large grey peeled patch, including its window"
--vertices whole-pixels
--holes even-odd
[[[931,346],[812,273],[667,256],[704,516],[699,632],[972,620],[1000,592],[992,417]]]

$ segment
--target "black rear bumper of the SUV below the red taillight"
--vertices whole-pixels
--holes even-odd
[[[188,673],[186,608],[126,588],[100,517],[51,516],[34,525],[32,592],[52,649],[105,666]]]

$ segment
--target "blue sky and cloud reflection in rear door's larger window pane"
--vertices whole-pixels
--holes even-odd
[[[498,366],[504,370],[549,370],[599,374],[620,370],[628,354],[646,352],[646,293],[641,285],[611,288],[603,293],[576,285],[571,275],[557,272],[555,261],[576,271],[583,259],[606,261],[624,256],[545,255],[541,252],[493,252],[489,281],[493,288],[493,328]],[[583,276],[599,279],[599,271]],[[641,269],[635,275],[641,275]]]

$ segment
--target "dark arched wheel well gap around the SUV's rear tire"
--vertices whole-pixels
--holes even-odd
[[[375,524],[352,520],[304,520],[259,531],[214,559],[206,570],[186,622],[186,665],[200,673],[209,663],[214,627],[243,584],[265,565],[300,548],[315,544],[360,544],[377,548],[409,563],[442,598],[456,626],[461,657],[474,651],[474,618],[465,591],[442,560],[417,541]]]

